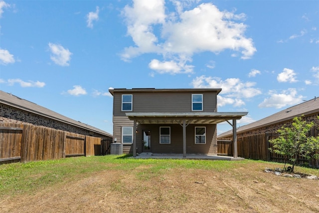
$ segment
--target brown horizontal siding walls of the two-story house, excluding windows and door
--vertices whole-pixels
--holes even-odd
[[[122,143],[122,127],[133,126],[134,122],[122,112],[122,94],[133,95],[132,112],[191,112],[191,95],[203,94],[203,111],[216,112],[216,92],[114,92],[113,97],[113,136],[118,143]],[[160,144],[160,126],[171,127],[171,144]],[[216,125],[201,125],[206,127],[206,144],[194,143],[194,127],[188,125],[186,128],[186,153],[216,154]],[[153,153],[183,153],[182,127],[176,125],[146,125],[141,124],[137,128],[137,153],[143,152],[142,130],[151,130],[151,150]],[[133,153],[133,145],[123,145],[123,153]]]

